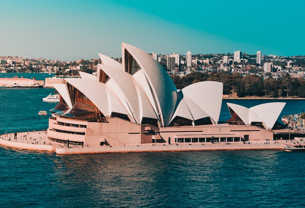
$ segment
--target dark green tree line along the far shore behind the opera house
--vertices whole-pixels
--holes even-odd
[[[171,75],[177,89],[182,89],[190,84],[201,81],[222,82],[223,94],[228,97],[260,97],[260,98],[295,98],[305,97],[305,80],[303,78],[292,78],[286,73],[282,78],[267,79],[256,74],[242,76],[239,73],[216,72],[201,73],[192,72],[183,77]],[[224,96],[225,97],[225,96]]]

